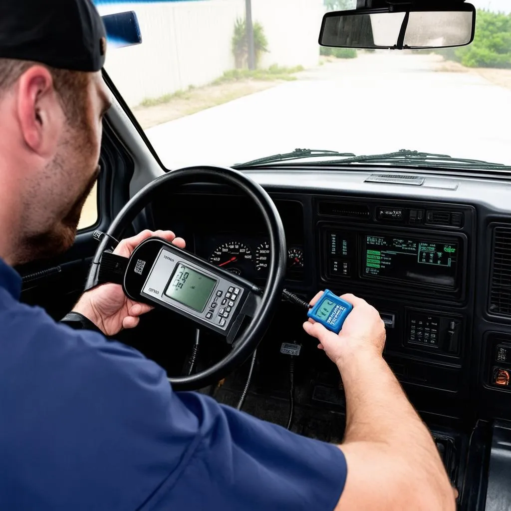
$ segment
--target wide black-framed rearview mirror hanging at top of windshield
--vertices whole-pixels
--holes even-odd
[[[448,4],[434,10],[412,5],[382,9],[328,12],[323,16],[319,44],[337,48],[407,50],[447,48],[474,39],[475,8]]]

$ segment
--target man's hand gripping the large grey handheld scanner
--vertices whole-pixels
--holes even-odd
[[[151,236],[158,236],[174,245],[184,248],[182,238],[176,238],[170,230],[144,230],[133,238],[121,241],[113,253],[129,257],[135,247]],[[136,327],[142,314],[149,312],[151,306],[138,303],[126,297],[122,286],[118,284],[103,284],[85,292],[73,311],[83,314],[90,319],[105,335],[115,335],[123,328]]]

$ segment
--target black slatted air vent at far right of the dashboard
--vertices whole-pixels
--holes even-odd
[[[495,227],[490,312],[511,316],[511,227]]]

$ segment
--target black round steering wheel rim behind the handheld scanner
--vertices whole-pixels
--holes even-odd
[[[273,311],[282,297],[286,273],[286,238],[281,217],[266,191],[245,174],[224,167],[187,167],[154,179],[126,203],[111,223],[106,233],[108,236],[103,236],[96,250],[85,284],[86,290],[98,284],[101,255],[110,244],[109,236],[121,239],[124,230],[162,189],[176,189],[183,184],[198,182],[228,184],[246,194],[263,216],[272,250],[268,265],[268,280],[259,306],[248,326],[235,339],[231,351],[215,365],[193,375],[169,378],[172,386],[177,390],[198,389],[220,381],[252,354],[270,325]]]

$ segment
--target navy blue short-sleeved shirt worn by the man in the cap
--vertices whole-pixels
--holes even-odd
[[[173,392],[130,347],[19,303],[0,260],[0,509],[332,510],[333,445]]]

